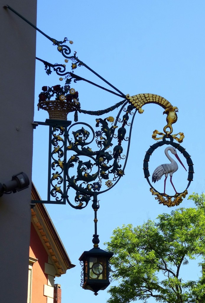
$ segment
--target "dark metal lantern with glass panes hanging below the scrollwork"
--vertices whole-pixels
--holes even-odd
[[[81,286],[89,289],[98,295],[97,291],[104,290],[111,282],[109,277],[109,260],[113,253],[107,252],[99,247],[94,247],[89,251],[84,251],[80,256],[82,265]]]

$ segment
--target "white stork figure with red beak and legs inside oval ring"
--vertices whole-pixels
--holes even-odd
[[[161,164],[159,165],[155,171],[153,172],[153,175],[152,175],[152,182],[156,182],[156,181],[159,181],[161,179],[161,177],[163,175],[165,175],[165,179],[164,179],[164,195],[165,195],[165,187],[166,187],[166,180],[167,180],[167,177],[168,175],[170,175],[170,182],[171,182],[171,185],[173,186],[174,188],[174,191],[177,193],[173,183],[172,183],[172,175],[174,174],[175,171],[177,171],[178,169],[178,165],[177,165],[177,162],[174,161],[174,159],[172,159],[170,157],[170,155],[168,154],[168,151],[171,151],[171,153],[173,155],[175,155],[175,157],[177,158],[177,160],[181,163],[181,165],[184,167],[184,164],[181,162],[179,156],[177,155],[177,151],[174,147],[172,146],[169,146],[167,148],[165,148],[164,152],[165,152],[165,155],[167,156],[167,158],[171,161],[171,163],[169,164]],[[186,170],[186,168],[184,167],[184,169]],[[187,171],[187,170],[186,170]]]

